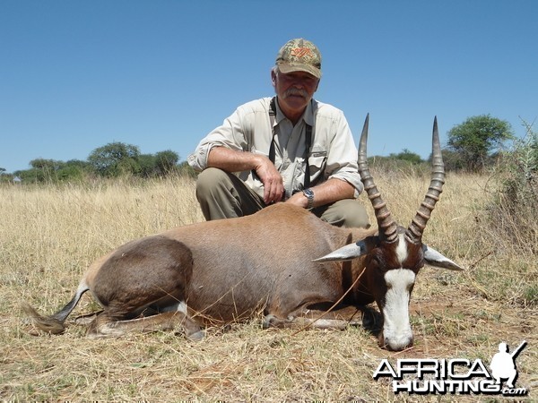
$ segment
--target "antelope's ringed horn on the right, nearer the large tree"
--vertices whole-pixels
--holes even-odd
[[[414,219],[412,219],[406,236],[409,241],[416,243],[421,240],[426,223],[430,219],[431,211],[435,208],[435,203],[439,200],[439,195],[443,192],[445,183],[445,164],[441,155],[441,146],[439,144],[439,133],[437,116],[433,121],[433,133],[431,139],[431,180],[426,197],[422,201],[419,210]]]

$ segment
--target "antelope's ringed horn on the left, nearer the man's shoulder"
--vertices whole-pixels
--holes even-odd
[[[381,193],[377,191],[374,178],[369,173],[368,160],[366,157],[366,143],[368,142],[368,124],[369,114],[366,116],[362,134],[360,134],[359,144],[359,173],[364,189],[368,193],[369,200],[376,212],[377,227],[379,228],[379,237],[388,243],[395,242],[397,238],[397,227],[395,220],[392,219],[390,211],[386,208],[386,202],[381,199]]]

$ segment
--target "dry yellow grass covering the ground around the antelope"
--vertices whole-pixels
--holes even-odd
[[[428,178],[376,174],[396,219],[412,218]],[[395,396],[372,380],[381,358],[482,358],[499,341],[529,344],[517,358],[517,386],[538,399],[535,256],[500,248],[484,224],[487,178],[448,176],[425,240],[468,269],[425,268],[412,296],[415,346],[377,347],[365,330],[261,330],[259,318],[212,329],[201,342],[170,332],[122,339],[31,337],[21,300],[52,313],[70,299],[85,267],[126,241],[202,220],[194,184],[92,184],[0,189],[0,399],[11,401],[312,400],[449,401]],[[492,237],[493,236],[493,237]],[[506,246],[506,245],[505,245]],[[533,291],[534,290],[534,291]],[[76,313],[97,309],[84,296]],[[462,399],[463,397],[458,397]],[[468,401],[488,397],[463,398]]]

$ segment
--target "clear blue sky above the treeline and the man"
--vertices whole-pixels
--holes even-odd
[[[112,141],[187,159],[240,104],[273,95],[292,38],[323,56],[316,98],[369,155],[427,158],[467,117],[538,117],[538,2],[0,0],[0,167],[87,159]],[[535,127],[536,128],[536,127]]]

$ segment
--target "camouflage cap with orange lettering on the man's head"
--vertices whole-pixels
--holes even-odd
[[[282,73],[307,72],[321,78],[321,54],[307,39],[291,39],[281,47],[276,65]]]

